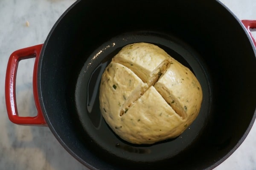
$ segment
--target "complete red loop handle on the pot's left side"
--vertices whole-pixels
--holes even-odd
[[[6,70],[6,82],[5,82],[5,96],[6,96],[6,109],[10,121],[20,125],[35,125],[35,126],[47,126],[44,116],[41,111],[38,94],[37,84],[34,83],[34,79],[37,73],[37,61],[40,56],[40,52],[43,44],[31,46],[24,49],[19,49],[13,52],[9,58]],[[33,74],[33,93],[35,106],[38,110],[38,114],[35,117],[20,117],[17,111],[16,103],[16,75],[18,63],[21,60],[28,58],[36,58]],[[36,81],[35,81],[36,82]],[[36,89],[36,90],[35,90]]]

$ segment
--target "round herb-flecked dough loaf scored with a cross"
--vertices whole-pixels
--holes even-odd
[[[198,116],[202,97],[195,75],[150,43],[123,47],[106,67],[99,91],[103,118],[133,144],[183,133]]]

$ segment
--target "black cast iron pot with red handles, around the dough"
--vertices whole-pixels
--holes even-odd
[[[11,55],[6,72],[9,118],[16,124],[48,126],[91,169],[212,169],[239,147],[256,117],[253,27],[256,21],[239,21],[218,0],[77,1],[44,44]],[[175,139],[129,144],[100,115],[101,74],[123,46],[135,42],[160,46],[201,83],[198,118]],[[19,117],[17,64],[31,57],[36,57],[38,115]]]

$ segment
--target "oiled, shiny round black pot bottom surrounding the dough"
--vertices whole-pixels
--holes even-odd
[[[175,139],[160,141],[151,145],[136,145],[123,141],[108,127],[99,110],[99,84],[105,67],[123,46],[130,43],[154,43],[164,49],[177,61],[188,67],[201,83],[203,102],[198,118],[183,134]],[[186,46],[186,47],[185,47]],[[132,161],[156,161],[172,157],[193,147],[193,143],[200,138],[201,130],[207,126],[209,109],[211,108],[211,84],[198,55],[191,47],[175,37],[162,35],[157,32],[130,32],[103,43],[97,48],[82,66],[75,90],[75,104],[78,121],[82,124],[82,131],[90,134],[92,143],[102,148],[101,152],[108,152]],[[139,113],[138,113],[139,114]]]

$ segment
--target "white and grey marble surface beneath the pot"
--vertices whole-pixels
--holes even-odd
[[[49,128],[12,124],[4,97],[9,55],[16,49],[44,43],[53,24],[74,1],[0,0],[0,170],[87,170],[61,147]],[[256,20],[256,0],[221,2],[239,19]],[[33,64],[34,59],[21,61],[18,68],[17,106],[22,116],[36,114]],[[255,124],[241,146],[215,170],[256,170]]]

